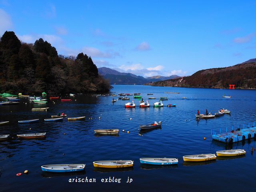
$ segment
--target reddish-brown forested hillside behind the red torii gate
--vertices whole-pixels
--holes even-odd
[[[250,61],[250,60],[249,60]],[[191,76],[176,80],[155,82],[152,86],[177,86],[194,88],[256,88],[256,62],[244,62],[231,67],[200,70]]]

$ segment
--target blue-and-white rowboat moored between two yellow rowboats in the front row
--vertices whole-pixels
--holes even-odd
[[[140,158],[141,164],[151,164],[151,165],[172,165],[178,164],[178,159],[176,158]]]

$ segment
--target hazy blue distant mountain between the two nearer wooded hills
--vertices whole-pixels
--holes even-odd
[[[173,78],[180,77],[180,76],[172,75],[169,77],[153,76],[153,77],[144,78],[142,76],[136,76],[132,73],[123,73],[107,67],[98,68],[98,72],[104,78],[108,79],[110,84],[126,84],[126,85],[131,85],[131,84],[142,85],[146,83],[161,81],[162,79],[173,79]]]

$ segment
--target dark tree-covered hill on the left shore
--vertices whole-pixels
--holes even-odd
[[[12,31],[6,31],[1,38],[1,93],[104,93],[110,88],[86,54],[80,53],[76,58],[61,56],[42,38],[26,44]]]

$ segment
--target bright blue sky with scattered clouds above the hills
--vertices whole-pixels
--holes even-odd
[[[188,76],[256,58],[255,0],[0,0],[0,36],[148,76]]]

